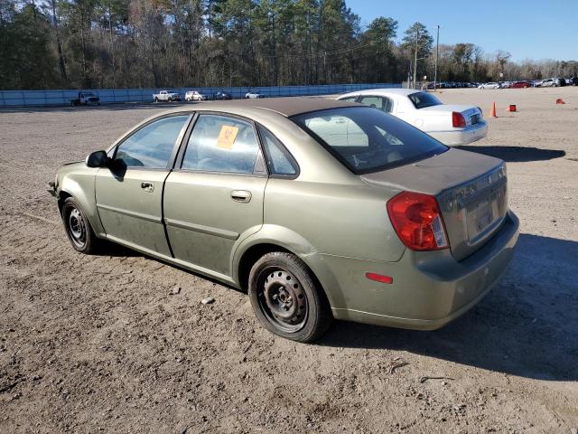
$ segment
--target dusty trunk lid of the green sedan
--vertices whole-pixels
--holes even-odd
[[[371,185],[435,196],[456,260],[480,249],[499,230],[508,212],[505,163],[460,149],[361,179]]]

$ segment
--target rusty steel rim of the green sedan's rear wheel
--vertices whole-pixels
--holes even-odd
[[[269,267],[259,274],[257,286],[259,308],[272,325],[286,333],[303,328],[309,306],[303,285],[293,273]]]

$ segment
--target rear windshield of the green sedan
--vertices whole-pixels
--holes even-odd
[[[292,119],[356,175],[407,165],[448,149],[403,120],[369,107],[314,111]]]

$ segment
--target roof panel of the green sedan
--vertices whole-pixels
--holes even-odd
[[[264,111],[274,111],[286,118],[325,109],[342,107],[359,107],[359,104],[335,99],[319,97],[285,97],[267,99],[232,99],[228,101],[210,101],[194,107],[172,109],[165,113],[182,111],[223,111],[247,115],[263,114]]]

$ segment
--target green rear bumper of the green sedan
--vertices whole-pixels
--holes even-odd
[[[333,274],[333,316],[338,319],[419,330],[446,325],[474,307],[508,269],[519,222],[508,212],[499,230],[480,250],[461,261],[450,250],[406,250],[398,262],[323,258]],[[391,276],[393,284],[365,278],[366,272]],[[336,283],[339,282],[339,283]],[[339,285],[339,289],[335,286]]]

